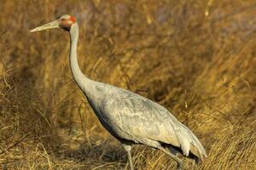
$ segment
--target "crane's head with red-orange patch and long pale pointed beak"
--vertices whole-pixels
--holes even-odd
[[[48,30],[51,28],[61,28],[64,31],[70,31],[74,23],[76,23],[76,20],[72,15],[64,14],[61,17],[57,18],[57,20],[54,20],[52,22],[49,22],[48,24],[38,26],[37,28],[32,29],[31,32]]]

